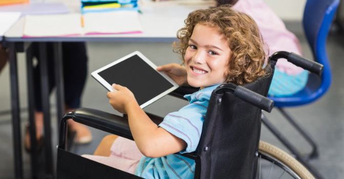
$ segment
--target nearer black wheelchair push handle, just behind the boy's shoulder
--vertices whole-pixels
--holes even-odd
[[[238,97],[245,102],[259,107],[260,109],[268,111],[269,113],[271,112],[274,105],[274,102],[271,99],[252,92],[250,89],[247,89],[243,86],[238,86],[233,83],[224,83],[215,89],[216,94],[223,94],[225,92],[230,92],[235,97]]]

